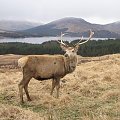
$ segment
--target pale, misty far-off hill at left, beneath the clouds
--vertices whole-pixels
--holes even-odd
[[[0,29],[7,31],[18,31],[26,30],[36,26],[40,26],[42,23],[33,23],[27,21],[12,21],[12,20],[1,20]]]

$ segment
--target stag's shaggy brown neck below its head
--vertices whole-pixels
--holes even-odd
[[[72,73],[77,66],[77,56],[65,57],[65,71],[66,74]]]

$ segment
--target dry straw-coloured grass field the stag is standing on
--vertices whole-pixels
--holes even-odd
[[[32,101],[24,96],[20,105],[21,78],[20,69],[0,69],[0,120],[120,120],[120,54],[80,57],[75,72],[61,80],[59,99],[49,95],[51,80],[32,79]]]

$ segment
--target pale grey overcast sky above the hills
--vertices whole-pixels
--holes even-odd
[[[48,23],[64,17],[98,24],[120,21],[120,0],[0,0],[0,20]]]

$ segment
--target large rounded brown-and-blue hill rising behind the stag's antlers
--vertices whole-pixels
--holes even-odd
[[[100,25],[92,24],[82,18],[74,17],[59,19],[23,32],[40,36],[57,36],[60,35],[61,32],[65,32],[70,36],[81,36],[83,34],[87,37],[89,29],[92,29],[96,33],[94,37],[120,38],[120,23],[118,22]]]

